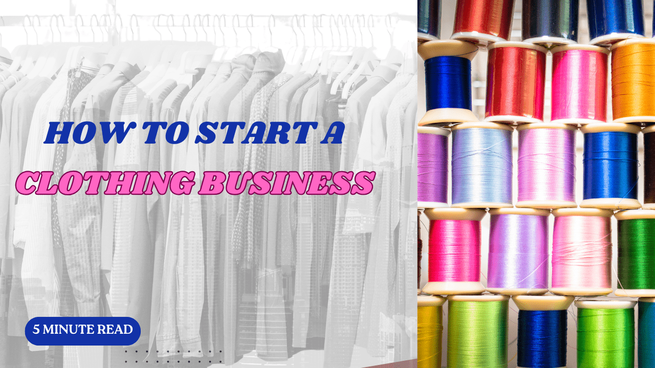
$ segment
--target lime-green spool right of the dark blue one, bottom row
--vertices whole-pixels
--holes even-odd
[[[578,368],[635,366],[636,301],[581,301],[578,307]]]

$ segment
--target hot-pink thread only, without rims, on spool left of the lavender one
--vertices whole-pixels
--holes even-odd
[[[432,220],[428,240],[429,282],[480,280],[480,222]]]

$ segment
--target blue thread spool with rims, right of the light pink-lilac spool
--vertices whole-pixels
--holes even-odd
[[[638,126],[587,124],[584,133],[584,198],[580,207],[633,210],[637,200]]]

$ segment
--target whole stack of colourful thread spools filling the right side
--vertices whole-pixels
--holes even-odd
[[[633,367],[635,325],[639,366],[650,367],[655,39],[645,37],[641,1],[588,0],[590,45],[577,43],[577,0],[523,0],[521,42],[510,41],[514,0],[457,0],[448,40],[439,39],[439,16],[429,15],[441,14],[439,7],[438,1],[419,0],[427,113],[418,130],[418,204],[419,215],[430,221],[423,239],[428,279],[419,280],[419,336],[432,336],[422,326],[447,326],[447,367],[496,368],[507,366],[508,329],[517,328],[518,367],[567,367],[567,310],[578,298],[578,367]],[[487,52],[481,119],[472,111],[471,87],[479,51]],[[544,121],[548,58],[551,119]],[[582,198],[575,190],[578,130],[584,137],[577,170]],[[637,185],[640,134],[643,189]],[[491,225],[483,233],[487,212]],[[614,273],[612,217],[618,224]],[[611,293],[626,300],[602,300]],[[437,296],[443,295],[442,310],[445,299]],[[517,327],[508,324],[510,297],[519,309]],[[431,323],[426,303],[430,315],[439,314]],[[419,340],[419,367],[439,367],[441,335],[427,341]]]

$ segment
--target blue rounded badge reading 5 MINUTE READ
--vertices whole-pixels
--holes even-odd
[[[34,345],[134,344],[141,327],[129,317],[35,317],[25,325],[25,336]]]

